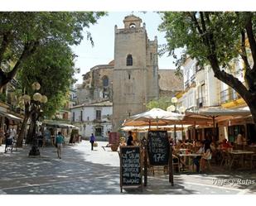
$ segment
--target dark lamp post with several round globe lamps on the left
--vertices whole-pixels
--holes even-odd
[[[31,84],[31,89],[35,92],[39,89],[41,89],[41,85],[38,82],[34,82]],[[47,97],[46,95],[41,95],[41,93],[34,93],[31,97],[27,94],[23,95],[23,100],[25,103],[29,104],[30,113],[31,113],[31,140],[32,140],[32,146],[31,151],[29,151],[29,156],[40,156],[40,151],[37,146],[36,142],[36,120],[39,118],[39,114],[41,113],[41,104],[47,103]]]

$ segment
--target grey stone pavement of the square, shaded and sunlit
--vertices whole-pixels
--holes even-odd
[[[34,158],[27,156],[29,146],[7,154],[0,146],[0,194],[121,194],[118,152],[98,143],[94,151],[89,141],[64,146],[62,159],[51,146]],[[174,175],[174,186],[159,171],[148,176],[142,191],[123,189],[123,194],[256,194],[256,171],[181,172]]]

